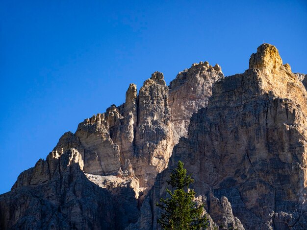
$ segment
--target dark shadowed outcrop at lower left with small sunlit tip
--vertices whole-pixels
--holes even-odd
[[[31,176],[29,171],[21,174],[29,176],[29,184],[15,184],[0,196],[0,229],[114,229],[110,194],[87,180],[82,168],[76,149],[61,156],[54,151],[38,161]],[[40,171],[50,179],[38,182],[35,172]]]

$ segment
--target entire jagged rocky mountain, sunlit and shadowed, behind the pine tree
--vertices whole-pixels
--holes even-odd
[[[159,229],[179,160],[209,229],[307,229],[306,76],[269,44],[242,74],[200,62],[167,86],[154,72],[20,174],[0,195],[0,229]]]

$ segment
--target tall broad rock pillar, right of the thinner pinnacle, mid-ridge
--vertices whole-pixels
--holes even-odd
[[[154,72],[140,89],[137,124],[132,164],[141,186],[150,187],[166,168],[174,146],[168,87],[160,72]]]

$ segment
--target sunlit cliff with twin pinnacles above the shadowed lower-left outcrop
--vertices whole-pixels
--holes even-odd
[[[130,84],[124,104],[85,119],[75,134],[64,134],[54,150],[74,147],[84,159],[85,173],[136,177],[142,191],[167,166],[174,146],[170,119],[168,87],[163,74],[155,72],[139,95]]]

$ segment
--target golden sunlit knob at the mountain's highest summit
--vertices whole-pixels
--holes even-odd
[[[282,66],[281,56],[278,49],[270,44],[264,43],[257,48],[250,58],[250,69],[267,70],[279,69]]]

